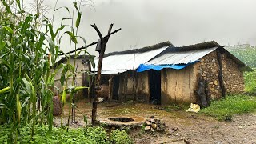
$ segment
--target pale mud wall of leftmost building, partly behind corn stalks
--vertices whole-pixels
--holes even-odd
[[[79,58],[79,59],[76,59],[75,60],[75,65],[78,65],[78,69],[77,69],[77,72],[80,72],[80,71],[85,71],[85,70],[89,70],[89,65],[85,66],[84,64],[82,64],[82,59]],[[66,62],[64,62],[66,63]],[[70,59],[70,64],[74,64],[74,59]],[[74,66],[74,68],[76,69],[77,66]],[[59,90],[62,90],[62,85],[61,85],[61,82],[60,82],[60,78],[61,78],[61,75],[62,75],[62,69],[58,70],[57,74],[55,75],[55,78],[54,78],[54,86],[55,87],[58,87]],[[83,74],[83,73],[80,73],[80,74],[77,74],[76,75],[76,82],[77,82],[77,86],[83,86],[83,80],[86,79],[87,74]],[[65,83],[64,83],[65,84]],[[68,82],[67,82],[67,86],[71,86],[72,85],[72,77],[70,77],[68,79]],[[55,95],[58,95],[58,89],[54,88],[54,94]],[[77,94],[76,94],[76,98],[84,98],[84,94],[83,94],[83,90],[80,90]]]

